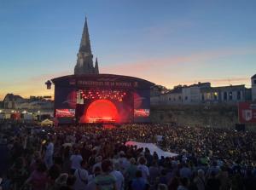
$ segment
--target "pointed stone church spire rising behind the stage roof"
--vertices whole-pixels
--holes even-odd
[[[90,37],[89,37],[89,30],[87,25],[87,18],[85,17],[84,23],[84,31],[82,34],[82,39],[80,43],[79,53],[78,53],[78,60],[77,64],[74,68],[75,75],[81,74],[98,74],[98,63],[96,60],[96,66],[93,66],[93,55],[90,49]]]

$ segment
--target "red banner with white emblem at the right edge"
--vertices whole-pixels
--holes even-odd
[[[256,102],[240,102],[238,118],[241,124],[256,124]]]

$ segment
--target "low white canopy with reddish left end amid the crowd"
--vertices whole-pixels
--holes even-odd
[[[157,153],[157,155],[159,157],[163,156],[166,158],[166,157],[176,157],[177,156],[177,153],[165,152],[162,149],[160,149],[159,147],[155,146],[153,143],[126,141],[125,146],[137,146],[137,148],[142,148],[142,147],[146,148],[147,147],[151,154],[153,154],[155,152],[155,153]]]

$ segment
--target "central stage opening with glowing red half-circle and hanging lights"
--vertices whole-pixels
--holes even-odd
[[[131,123],[132,94],[118,89],[79,90],[79,123]]]

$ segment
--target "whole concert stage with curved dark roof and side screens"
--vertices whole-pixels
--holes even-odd
[[[59,124],[147,123],[150,87],[142,78],[113,74],[68,75],[55,84]]]

